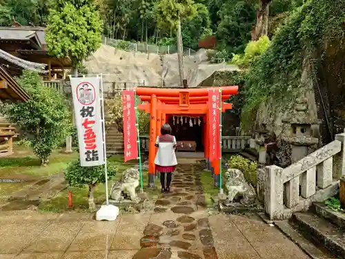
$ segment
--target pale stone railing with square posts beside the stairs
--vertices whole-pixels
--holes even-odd
[[[344,144],[345,133],[337,134],[333,142],[285,169],[266,166],[264,205],[271,220],[290,218],[337,193],[345,173]]]

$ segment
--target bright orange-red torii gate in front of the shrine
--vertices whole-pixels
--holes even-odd
[[[224,103],[223,101],[229,99],[230,95],[237,95],[237,86],[221,86],[221,101],[222,112],[230,110],[232,104]],[[149,141],[149,167],[148,180],[149,186],[155,185],[155,141],[157,135],[160,134],[161,125],[166,123],[169,115],[201,115],[204,122],[209,122],[208,119],[208,90],[212,88],[145,88],[137,87],[135,89],[137,96],[140,97],[141,102],[148,102],[146,104],[139,104],[138,109],[150,113],[150,141]],[[203,124],[204,130],[204,153],[205,157],[209,157],[210,144],[208,140],[208,125]],[[215,173],[215,186],[219,186],[219,160],[211,162]]]

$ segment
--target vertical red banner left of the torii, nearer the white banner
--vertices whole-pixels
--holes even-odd
[[[124,113],[124,160],[138,158],[137,115],[135,114],[135,95],[133,90],[122,91],[122,111]]]

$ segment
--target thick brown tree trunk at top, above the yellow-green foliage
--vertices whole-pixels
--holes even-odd
[[[272,0],[260,0],[259,10],[257,10],[257,23],[255,30],[252,33],[252,40],[257,41],[259,37],[268,35],[268,15],[270,1]]]

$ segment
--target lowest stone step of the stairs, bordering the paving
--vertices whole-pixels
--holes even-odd
[[[297,246],[313,259],[336,259],[328,251],[319,249],[313,242],[304,238],[302,233],[299,233],[288,220],[280,220],[275,222],[275,226],[282,231],[291,241],[295,242]]]

